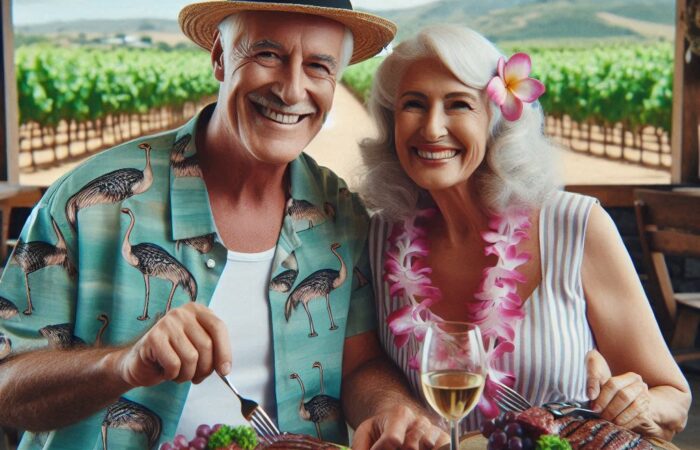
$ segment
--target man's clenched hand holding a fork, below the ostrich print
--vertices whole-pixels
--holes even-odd
[[[197,303],[171,310],[135,344],[114,356],[119,375],[133,387],[169,380],[196,384],[214,370],[222,375],[231,370],[226,326]]]

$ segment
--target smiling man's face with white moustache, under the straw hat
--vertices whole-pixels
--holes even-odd
[[[296,158],[333,102],[344,35],[338,22],[303,14],[247,13],[231,55],[213,50],[228,136],[268,164]]]

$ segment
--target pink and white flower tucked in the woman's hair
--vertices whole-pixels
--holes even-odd
[[[491,100],[501,107],[503,117],[518,120],[523,113],[523,102],[532,103],[544,94],[544,84],[530,78],[532,62],[526,53],[516,53],[506,62],[498,59],[498,74],[486,86]]]

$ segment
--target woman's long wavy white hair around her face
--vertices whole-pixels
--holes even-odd
[[[368,102],[379,134],[360,144],[366,172],[359,190],[368,207],[400,220],[412,215],[419,204],[432,202],[428,192],[406,175],[395,150],[394,107],[407,67],[417,59],[435,57],[462,83],[484,90],[501,56],[479,33],[454,25],[425,28],[394,48],[377,70]],[[525,104],[514,122],[503,119],[491,101],[488,107],[486,156],[473,175],[479,197],[492,212],[515,205],[540,206],[558,187],[558,180],[555,147],[543,134],[539,103]]]

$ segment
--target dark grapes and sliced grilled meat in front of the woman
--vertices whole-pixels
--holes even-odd
[[[501,414],[485,422],[481,426],[481,433],[488,438],[489,450],[654,448],[641,435],[607,420],[578,416],[557,418],[542,407],[529,408],[521,413]]]

